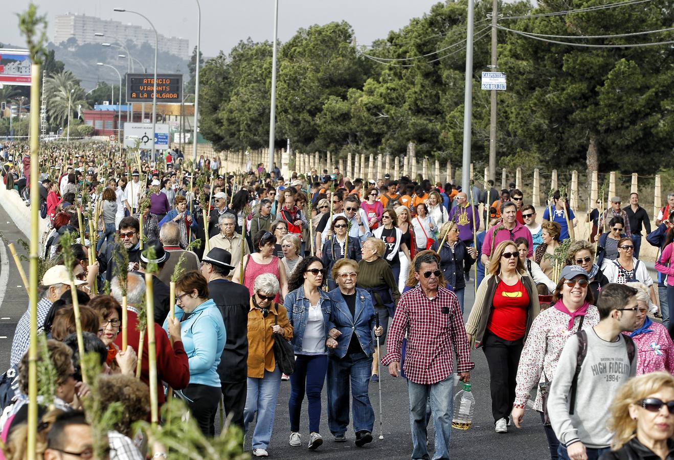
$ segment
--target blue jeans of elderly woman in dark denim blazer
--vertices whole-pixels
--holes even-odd
[[[353,340],[353,338],[352,338]],[[348,387],[351,384],[353,430],[372,432],[375,412],[370,402],[368,385],[372,357],[364,352],[347,354],[328,360],[328,426],[334,435],[346,433],[348,426]]]

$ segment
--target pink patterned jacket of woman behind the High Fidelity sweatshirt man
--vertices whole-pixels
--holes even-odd
[[[636,374],[648,374],[664,370],[674,373],[674,343],[672,342],[667,328],[653,321],[648,327],[652,332],[638,334],[632,337],[638,352],[636,361]],[[630,335],[629,332],[623,332]]]

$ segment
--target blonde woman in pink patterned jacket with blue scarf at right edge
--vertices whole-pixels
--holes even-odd
[[[633,332],[623,332],[634,340],[638,352],[636,374],[648,374],[665,370],[674,374],[674,343],[667,332],[667,328],[661,323],[656,323],[648,317],[648,311],[652,307],[650,295],[646,285],[638,282],[625,283],[636,289],[637,321],[638,327]]]

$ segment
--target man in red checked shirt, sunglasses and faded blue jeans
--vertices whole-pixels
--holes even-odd
[[[441,274],[437,259],[429,253],[417,257],[417,288],[402,294],[393,324],[386,337],[388,353],[381,363],[397,377],[400,372],[400,347],[407,335],[404,371],[410,397],[412,459],[428,459],[426,399],[431,397],[435,426],[434,459],[449,459],[452,432],[454,376],[452,356],[456,354],[460,380],[470,380],[475,364],[470,360],[463,316],[456,294],[439,286]]]

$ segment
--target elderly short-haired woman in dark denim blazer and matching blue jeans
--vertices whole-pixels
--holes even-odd
[[[372,441],[375,413],[368,395],[374,341],[384,328],[375,328],[375,308],[366,290],[357,288],[358,263],[339,259],[332,267],[338,287],[330,291],[332,311],[326,341],[332,350],[328,359],[328,426],[336,442],[346,441],[348,387],[353,398],[353,430],[356,445]]]

